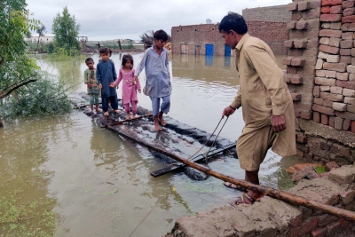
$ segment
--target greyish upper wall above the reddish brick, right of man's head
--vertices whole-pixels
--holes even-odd
[[[289,22],[291,20],[291,12],[288,12],[288,5],[247,8],[243,9],[241,12],[245,20],[275,22]]]

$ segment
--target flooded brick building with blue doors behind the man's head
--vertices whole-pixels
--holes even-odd
[[[247,9],[243,10],[243,16],[247,20],[251,36],[263,39],[275,54],[286,54],[287,48],[283,43],[288,40],[287,23],[291,16],[287,5]],[[233,55],[233,51],[219,34],[218,23],[173,27],[171,38],[172,53]]]

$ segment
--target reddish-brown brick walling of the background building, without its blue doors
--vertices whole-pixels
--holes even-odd
[[[268,22],[248,20],[248,33],[268,43],[276,55],[284,55],[287,48],[283,43],[288,40],[287,24],[284,22]],[[214,44],[214,55],[225,55],[225,41],[218,31],[218,24],[201,24],[192,26],[179,26],[171,28],[172,53],[185,51],[187,54],[196,54],[200,48],[200,54],[206,53],[206,44]],[[183,50],[181,44],[184,44]],[[200,46],[198,46],[200,45]]]

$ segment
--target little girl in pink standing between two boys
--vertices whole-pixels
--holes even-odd
[[[130,119],[130,104],[132,106],[132,117],[136,117],[137,114],[137,91],[140,93],[140,83],[139,80],[133,83],[134,69],[133,67],[133,57],[131,55],[123,55],[122,67],[118,73],[118,78],[114,83],[110,84],[110,87],[118,85],[122,81],[122,104],[124,110],[127,112],[126,119]]]

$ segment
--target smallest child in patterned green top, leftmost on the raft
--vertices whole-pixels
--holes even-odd
[[[91,58],[85,59],[85,64],[88,69],[83,72],[83,83],[88,85],[88,95],[90,96],[90,107],[91,113],[94,112],[94,105],[96,112],[101,112],[99,110],[99,86],[98,80],[96,79],[96,69],[94,67],[94,60]]]

